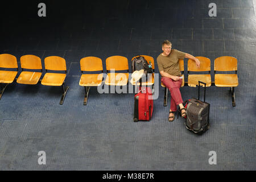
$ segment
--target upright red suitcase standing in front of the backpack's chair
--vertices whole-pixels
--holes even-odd
[[[134,96],[134,122],[150,121],[153,113],[152,90],[146,86],[139,87],[139,93]]]

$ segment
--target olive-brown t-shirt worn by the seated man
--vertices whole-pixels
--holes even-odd
[[[172,76],[181,76],[179,59],[184,59],[185,53],[172,49],[168,56],[160,54],[156,59],[158,62],[159,72],[164,71]]]

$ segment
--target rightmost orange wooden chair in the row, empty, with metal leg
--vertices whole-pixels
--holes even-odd
[[[216,74],[216,71],[235,71],[235,74]],[[230,87],[232,106],[236,106],[234,88],[238,86],[237,59],[231,56],[217,57],[214,60],[214,83],[215,86]]]

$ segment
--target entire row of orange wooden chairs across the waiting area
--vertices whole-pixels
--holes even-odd
[[[148,77],[146,82],[142,82],[142,85],[152,85],[154,88],[154,72],[155,64],[154,58],[147,55],[143,56],[147,62],[151,62],[153,73]],[[212,82],[210,78],[210,60],[207,57],[198,56],[197,59],[200,60],[200,68],[196,68],[195,62],[188,60],[188,82],[184,81],[184,60],[179,60],[180,71],[183,74],[183,84],[188,86],[198,85],[198,81],[203,81],[207,83],[207,86],[215,85],[221,87],[230,87],[232,92],[232,105],[236,106],[236,100],[234,96],[234,87],[238,86],[237,77],[237,59],[230,56],[218,57],[214,60],[214,78],[215,81]],[[69,87],[65,86],[65,77],[67,74],[67,68],[65,64],[65,59],[59,56],[49,56],[44,59],[46,72],[49,71],[65,71],[65,73],[46,73],[41,80],[42,85],[49,86],[62,86],[63,96],[61,97],[60,104],[63,104],[65,94],[67,93]],[[19,84],[37,84],[42,76],[42,64],[41,59],[34,55],[25,55],[20,57],[20,65],[22,68],[22,73],[20,73],[17,81]],[[0,67],[2,68],[16,68],[17,71],[0,71],[0,83],[5,84],[0,92],[0,99],[2,93],[6,86],[14,81],[18,73],[18,64],[16,57],[9,54],[0,55]],[[102,60],[98,57],[84,57],[80,60],[81,67],[81,78],[79,85],[85,88],[84,105],[87,104],[88,94],[91,86],[100,86],[103,80],[103,66]],[[30,72],[23,71],[23,69],[41,69],[41,72]],[[114,71],[126,71],[126,73],[111,72]],[[88,74],[84,72],[97,72],[102,73]],[[126,57],[123,56],[111,56],[106,59],[106,71],[108,75],[105,79],[106,85],[127,85],[129,80],[129,65]],[[208,72],[207,75],[191,74],[191,72]],[[235,74],[217,74],[216,71],[236,71]],[[132,83],[136,85],[135,82]],[[167,106],[167,88],[161,83],[164,89],[164,106]]]

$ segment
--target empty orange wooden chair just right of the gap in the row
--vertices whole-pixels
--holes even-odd
[[[80,60],[81,78],[79,85],[85,88],[84,105],[87,104],[90,86],[100,86],[103,78],[102,60],[98,57],[84,57]],[[100,74],[83,74],[83,72],[101,71]]]

